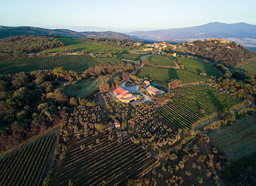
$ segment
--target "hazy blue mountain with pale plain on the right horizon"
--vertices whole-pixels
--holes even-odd
[[[237,24],[211,22],[195,27],[136,31],[128,34],[151,41],[172,41],[178,43],[194,41],[196,39],[223,38],[236,41],[244,47],[256,47],[256,25],[246,24],[244,22]]]

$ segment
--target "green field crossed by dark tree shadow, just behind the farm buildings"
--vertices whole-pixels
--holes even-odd
[[[194,83],[194,82],[204,82],[207,78],[196,75],[182,69],[172,69],[172,68],[157,68],[153,66],[145,66],[138,70],[135,74],[139,78],[149,78],[160,83],[168,83],[172,79],[179,79],[183,84]]]

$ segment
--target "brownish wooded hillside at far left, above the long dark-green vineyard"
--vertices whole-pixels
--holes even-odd
[[[28,57],[31,52],[64,46],[62,41],[49,36],[13,36],[0,39],[0,60]]]

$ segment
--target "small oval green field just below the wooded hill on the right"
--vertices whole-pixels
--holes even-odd
[[[195,59],[188,57],[177,57],[177,59],[184,65],[185,69],[192,71],[194,73],[206,73],[207,76],[220,77],[220,72],[214,68],[211,64],[205,62],[200,62]]]

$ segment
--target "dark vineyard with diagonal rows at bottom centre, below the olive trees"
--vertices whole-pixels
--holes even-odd
[[[99,140],[96,143],[96,140]],[[82,150],[81,145],[85,145]],[[91,149],[88,148],[90,145]],[[109,140],[108,135],[91,136],[77,141],[57,170],[54,185],[123,185],[158,162],[147,150],[129,138]]]

